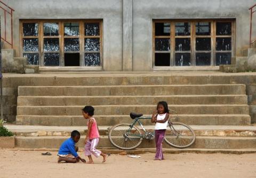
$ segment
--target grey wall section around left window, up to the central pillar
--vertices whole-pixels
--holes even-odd
[[[13,39],[19,55],[20,19],[103,19],[103,67],[106,71],[122,70],[122,1],[9,1],[15,10]]]

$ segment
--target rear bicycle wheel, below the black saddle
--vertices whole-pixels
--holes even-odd
[[[116,124],[109,130],[108,139],[116,148],[131,150],[139,147],[142,134],[137,127],[130,124]]]

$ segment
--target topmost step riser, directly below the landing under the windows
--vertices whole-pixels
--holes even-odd
[[[62,74],[66,75],[66,74]],[[31,76],[17,77],[17,78],[4,78],[4,84],[9,84],[9,86],[63,86],[63,83],[67,86],[87,86],[88,83],[92,86],[109,86],[109,85],[137,85],[137,84],[233,84],[243,83],[245,76],[225,76],[223,74],[174,74],[174,75],[166,75],[166,73],[154,74],[151,76],[149,73],[147,74],[138,74],[140,76],[131,77],[129,74],[125,74],[126,76],[120,74],[111,74],[111,77],[93,77],[91,74],[83,74],[81,75],[73,75],[67,74],[66,76],[53,75],[50,77],[35,77],[31,78]],[[103,74],[105,75],[105,74]],[[147,76],[145,76],[147,75]],[[254,82],[254,76],[247,76],[248,82]]]

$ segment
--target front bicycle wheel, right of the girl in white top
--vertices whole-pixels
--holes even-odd
[[[196,134],[190,126],[181,122],[168,123],[164,141],[175,148],[187,148],[196,140]]]

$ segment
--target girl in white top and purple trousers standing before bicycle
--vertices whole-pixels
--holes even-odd
[[[167,129],[169,118],[169,109],[165,101],[160,101],[157,104],[157,111],[153,112],[151,122],[155,125],[155,141],[156,141],[156,156],[155,160],[164,159],[162,142],[164,140],[165,131]]]

